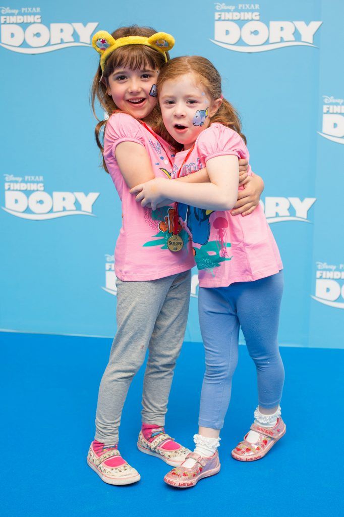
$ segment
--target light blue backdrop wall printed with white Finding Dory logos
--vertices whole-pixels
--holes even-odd
[[[88,101],[99,29],[150,25],[173,56],[209,58],[242,115],[282,254],[280,343],[344,347],[341,0],[226,4],[85,0],[0,8],[3,329],[113,336],[121,223]],[[281,21],[282,20],[282,21]],[[201,341],[193,278],[186,340]]]

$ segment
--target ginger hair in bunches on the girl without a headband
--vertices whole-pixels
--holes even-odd
[[[165,81],[178,79],[181,75],[193,73],[199,82],[208,90],[210,98],[216,100],[222,97],[221,75],[208,59],[201,56],[174,57],[159,73],[157,87],[158,92]],[[161,113],[161,112],[160,112]],[[241,120],[238,112],[228,100],[223,99],[220,108],[210,119],[210,124],[218,122],[227,126],[240,134],[246,143],[245,135],[241,132]],[[160,114],[154,131],[159,133],[162,138],[167,139],[167,130],[163,124]]]

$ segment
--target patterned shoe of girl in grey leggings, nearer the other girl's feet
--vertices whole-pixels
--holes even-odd
[[[179,446],[178,449],[163,449],[163,445],[168,440],[173,439],[174,438],[171,438],[166,433],[160,433],[152,440],[152,442],[148,442],[148,440],[146,440],[142,434],[142,431],[140,431],[137,440],[137,448],[139,451],[144,452],[145,454],[155,456],[155,458],[160,458],[162,461],[167,463],[167,465],[176,467],[185,461],[187,454],[189,454],[191,451],[185,447],[182,447],[180,444],[177,444]]]

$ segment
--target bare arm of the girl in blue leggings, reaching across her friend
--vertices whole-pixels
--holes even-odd
[[[216,156],[207,161],[211,183],[182,183],[155,178],[146,184],[131,189],[139,192],[136,201],[142,206],[151,204],[153,210],[164,199],[208,210],[230,210],[237,201],[239,163],[237,156]]]

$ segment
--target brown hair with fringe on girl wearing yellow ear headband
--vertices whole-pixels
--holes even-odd
[[[112,33],[112,37],[115,39],[123,38],[126,36],[145,36],[146,38],[149,38],[156,32],[157,31],[154,31],[154,29],[151,27],[139,27],[138,25],[131,25],[130,27],[119,27],[115,32]],[[166,52],[166,56],[167,59],[169,59],[168,52]],[[93,114],[97,120],[99,120],[99,118],[97,117],[95,110],[96,98],[99,100],[102,109],[107,113],[108,116],[110,116],[115,110],[118,109],[112,97],[107,95],[107,78],[112,74],[115,68],[129,67],[132,70],[136,70],[142,67],[152,67],[154,69],[157,68],[160,70],[164,64],[164,55],[161,52],[152,49],[151,47],[147,47],[146,45],[126,45],[125,47],[119,47],[114,52],[112,52],[112,54],[110,54],[110,56],[108,56],[106,59],[103,73],[99,64],[91,86],[90,101]],[[152,114],[152,117],[158,118],[158,116],[154,113]],[[104,147],[100,139],[100,132],[102,129],[105,129],[106,121],[107,118],[104,120],[99,120],[95,129],[96,142],[102,154]],[[170,140],[171,138],[169,137],[169,141]],[[108,172],[104,158],[103,167],[105,171]]]

